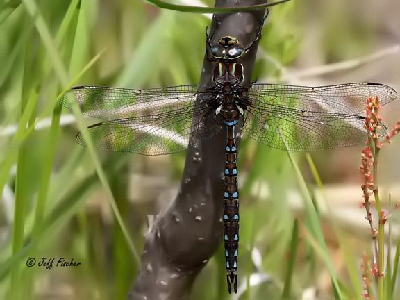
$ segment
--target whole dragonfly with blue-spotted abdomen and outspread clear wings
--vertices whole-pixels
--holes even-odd
[[[261,30],[261,28],[260,28]],[[95,147],[144,155],[176,153],[226,131],[224,169],[224,245],[228,292],[237,292],[239,242],[238,128],[270,147],[313,151],[360,144],[365,140],[368,97],[386,104],[397,97],[387,85],[347,83],[321,87],[243,85],[240,58],[246,47],[233,36],[215,45],[207,36],[207,54],[215,61],[213,84],[148,90],[81,86],[72,89],[82,113],[104,120],[88,128]],[[66,98],[62,105],[70,108]],[[387,133],[381,125],[379,135]],[[76,137],[85,144],[81,133]]]

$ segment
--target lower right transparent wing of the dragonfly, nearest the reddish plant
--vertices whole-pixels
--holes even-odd
[[[243,131],[270,147],[290,151],[317,151],[362,143],[367,137],[365,118],[358,115],[249,107]],[[382,137],[387,128],[381,124]]]

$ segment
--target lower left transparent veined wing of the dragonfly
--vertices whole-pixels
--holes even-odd
[[[213,110],[206,108],[177,109],[102,122],[90,126],[88,131],[98,149],[144,155],[169,154],[188,149],[219,132],[213,115]],[[76,141],[85,144],[81,133]]]

